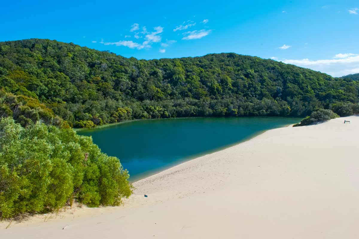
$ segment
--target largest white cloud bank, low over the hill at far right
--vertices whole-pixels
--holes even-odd
[[[335,58],[311,61],[308,58],[302,60],[285,59],[283,62],[301,67],[310,68],[315,71],[325,72],[334,77],[359,73],[359,54],[336,54]]]

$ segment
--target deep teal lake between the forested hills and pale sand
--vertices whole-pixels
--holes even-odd
[[[130,181],[136,181],[265,130],[299,121],[284,117],[140,120],[78,134],[92,136],[102,152],[118,157],[130,172]]]

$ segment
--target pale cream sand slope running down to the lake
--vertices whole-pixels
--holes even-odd
[[[358,139],[357,116],[269,130],[136,182],[124,206],[2,223],[0,238],[359,238]]]

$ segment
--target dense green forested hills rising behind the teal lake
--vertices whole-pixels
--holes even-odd
[[[359,111],[359,82],[270,59],[221,53],[147,61],[47,39],[0,43],[0,88],[0,116],[23,125]]]

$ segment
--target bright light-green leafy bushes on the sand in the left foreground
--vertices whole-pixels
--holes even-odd
[[[90,137],[0,119],[0,218],[56,210],[74,199],[91,207],[120,205],[132,193],[128,178]]]

